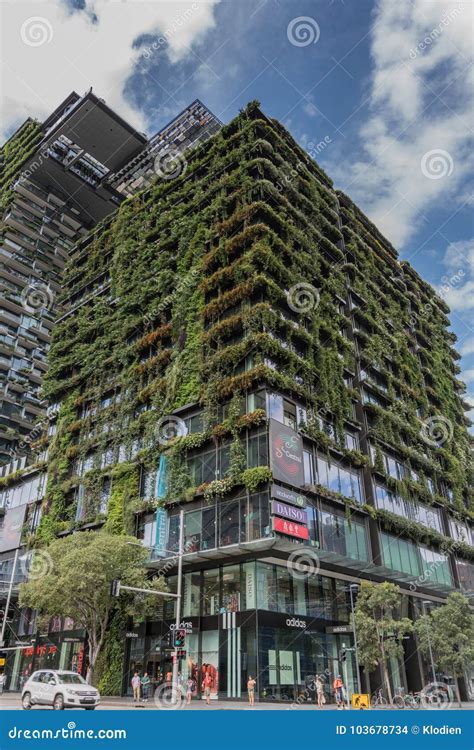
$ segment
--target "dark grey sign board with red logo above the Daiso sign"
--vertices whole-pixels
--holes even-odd
[[[275,419],[270,419],[270,466],[277,481],[293,487],[304,485],[301,436]]]

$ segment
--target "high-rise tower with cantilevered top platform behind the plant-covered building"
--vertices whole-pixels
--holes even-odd
[[[156,177],[159,154],[179,154],[219,127],[195,101],[148,141],[89,91],[72,93],[43,123],[27,120],[3,146],[0,464],[28,451],[24,438],[44,413],[46,353],[74,242]]]

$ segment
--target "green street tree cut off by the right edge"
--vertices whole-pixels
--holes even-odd
[[[474,663],[474,617],[469,600],[453,592],[446,604],[434,607],[415,623],[421,653],[433,661],[440,672],[454,678],[456,698],[461,705],[459,677]]]

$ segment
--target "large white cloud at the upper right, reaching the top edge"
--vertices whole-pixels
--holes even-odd
[[[359,132],[363,158],[332,171],[396,245],[419,228],[423,210],[465,192],[473,163],[471,27],[470,3],[376,6],[369,113]],[[444,154],[425,159],[423,173],[431,151]]]

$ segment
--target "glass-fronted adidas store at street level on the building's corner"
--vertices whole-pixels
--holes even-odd
[[[173,590],[175,579],[168,583]],[[211,697],[220,699],[245,699],[250,675],[263,701],[314,701],[316,674],[324,678],[328,701],[337,674],[355,692],[345,581],[295,578],[283,562],[251,561],[186,573],[183,584],[186,644],[179,671],[183,681],[194,680],[195,696],[205,674],[212,678]],[[174,627],[174,602],[167,602],[163,620],[126,634],[125,693],[134,671],[147,671],[155,685],[170,678]]]

